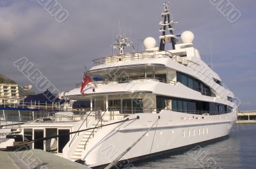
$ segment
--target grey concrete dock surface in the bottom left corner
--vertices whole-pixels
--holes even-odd
[[[87,166],[39,149],[18,152],[0,152],[0,168],[8,169],[86,169]],[[89,169],[89,168],[88,168]]]

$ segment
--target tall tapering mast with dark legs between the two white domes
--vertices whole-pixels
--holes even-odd
[[[161,13],[162,17],[164,18],[164,22],[159,22],[160,26],[163,26],[163,29],[161,28],[159,30],[160,33],[162,33],[162,36],[159,36],[160,39],[160,47],[159,50],[164,50],[165,44],[168,42],[172,43],[173,50],[175,49],[175,44],[178,41],[177,36],[173,35],[174,31],[174,24],[177,24],[177,22],[173,22],[170,18],[170,11],[168,10],[169,3],[164,3],[164,11]],[[168,31],[170,31],[170,34],[166,35],[166,27],[168,27]]]

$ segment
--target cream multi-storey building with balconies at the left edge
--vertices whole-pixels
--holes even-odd
[[[0,105],[19,103],[19,86],[17,84],[0,84]]]

